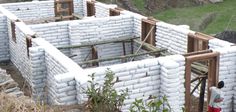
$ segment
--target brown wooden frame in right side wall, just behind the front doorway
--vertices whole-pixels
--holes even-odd
[[[202,51],[208,49],[209,40],[214,37],[196,32],[195,34],[188,34],[188,49],[187,52]]]

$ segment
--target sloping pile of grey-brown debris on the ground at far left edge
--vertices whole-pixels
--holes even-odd
[[[24,95],[18,84],[2,69],[0,69],[0,92],[16,95],[17,97]]]

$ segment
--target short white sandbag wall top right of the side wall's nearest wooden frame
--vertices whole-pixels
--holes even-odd
[[[230,47],[234,45],[233,43],[224,41],[224,40],[220,40],[217,38],[211,39],[209,40],[209,47],[210,49],[217,49],[217,48],[222,48],[222,47]]]

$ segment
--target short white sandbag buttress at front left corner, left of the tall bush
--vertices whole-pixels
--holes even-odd
[[[77,104],[76,82],[71,73],[47,77],[48,102],[53,105]]]

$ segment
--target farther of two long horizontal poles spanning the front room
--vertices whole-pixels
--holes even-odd
[[[83,43],[81,45],[68,45],[68,46],[57,47],[57,49],[81,48],[81,47],[90,47],[93,45],[101,45],[101,44],[107,44],[107,43],[131,42],[132,39],[135,39],[135,38],[106,40],[106,41],[101,41],[101,42],[97,42],[97,43],[92,43],[92,42],[91,43]]]

